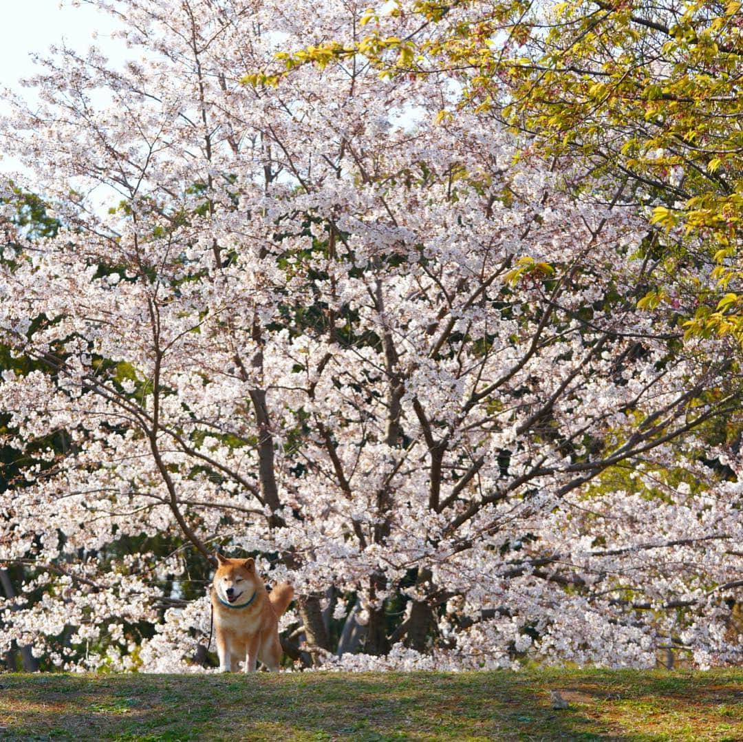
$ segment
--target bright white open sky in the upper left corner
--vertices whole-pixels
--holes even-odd
[[[60,7],[60,4],[62,7]],[[0,115],[7,112],[2,100],[4,88],[22,91],[33,100],[33,91],[21,88],[19,79],[36,74],[31,54],[44,54],[52,44],[64,41],[85,51],[96,45],[112,61],[126,58],[122,42],[111,42],[115,28],[111,17],[88,4],[73,7],[72,0],[0,0]],[[98,38],[93,38],[97,32]],[[132,56],[135,56],[132,54]],[[18,167],[11,158],[1,158],[0,171]]]

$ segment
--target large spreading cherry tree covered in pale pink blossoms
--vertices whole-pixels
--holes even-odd
[[[713,266],[591,162],[442,120],[445,74],[244,84],[361,6],[96,4],[137,60],[57,50],[1,129],[62,228],[3,254],[0,643],[194,669],[219,548],[325,666],[739,662],[737,349],[678,326]]]

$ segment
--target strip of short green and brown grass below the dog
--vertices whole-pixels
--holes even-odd
[[[733,742],[743,670],[3,674],[0,739]]]

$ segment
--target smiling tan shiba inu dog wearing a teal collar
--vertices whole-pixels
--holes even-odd
[[[217,555],[212,581],[212,606],[221,672],[233,672],[245,662],[245,672],[256,671],[260,659],[269,670],[279,669],[279,616],[294,594],[287,582],[270,594],[256,575],[256,562]]]

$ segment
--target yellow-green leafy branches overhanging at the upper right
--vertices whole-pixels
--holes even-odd
[[[736,1],[392,1],[367,10],[355,38],[279,60],[291,70],[360,54],[383,77],[447,74],[459,94],[442,116],[496,117],[540,157],[586,158],[626,178],[649,222],[687,259],[711,263],[709,280],[687,287],[698,298],[687,331],[740,339],[742,18]],[[670,283],[644,299],[674,301]]]

